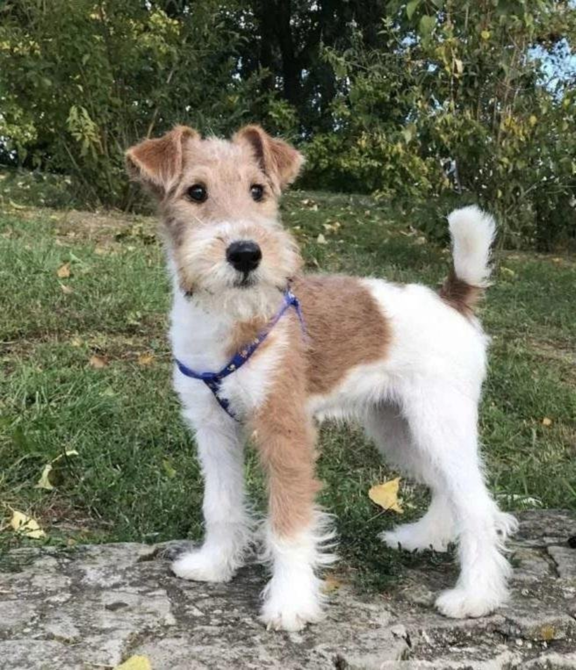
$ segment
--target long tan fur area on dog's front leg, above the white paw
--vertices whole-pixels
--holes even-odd
[[[314,476],[315,429],[305,403],[302,334],[294,314],[287,314],[285,320],[291,346],[278,362],[273,387],[252,427],[268,476],[273,530],[291,536],[311,523],[320,484]]]

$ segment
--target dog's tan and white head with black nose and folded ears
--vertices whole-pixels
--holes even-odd
[[[178,126],[126,157],[131,177],[159,201],[185,293],[216,299],[224,309],[277,303],[301,265],[278,217],[279,196],[303,162],[296,149],[254,125],[230,141]]]

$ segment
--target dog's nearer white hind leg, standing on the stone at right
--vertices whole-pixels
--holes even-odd
[[[443,490],[458,535],[461,572],[455,588],[437,598],[442,614],[484,616],[508,594],[511,567],[503,555],[514,517],[502,513],[482,476],[478,454],[476,402],[448,383],[405,388],[403,414],[429,480]]]

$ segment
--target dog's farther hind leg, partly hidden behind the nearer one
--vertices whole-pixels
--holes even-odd
[[[364,421],[366,434],[372,438],[386,462],[405,474],[427,484],[432,490],[432,502],[427,513],[415,523],[405,523],[392,531],[384,531],[380,538],[388,547],[399,546],[407,551],[434,549],[446,551],[455,539],[453,514],[447,496],[427,476],[421,455],[415,445],[405,417],[394,405],[380,405],[368,413]]]

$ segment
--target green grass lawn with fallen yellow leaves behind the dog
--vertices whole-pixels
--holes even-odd
[[[418,215],[301,192],[283,209],[309,269],[430,285],[447,271],[447,250],[422,236]],[[66,263],[70,276],[58,277]],[[62,545],[200,538],[202,482],[171,391],[155,222],[5,202],[0,280],[0,548],[39,542],[11,531],[11,509]],[[507,509],[576,509],[575,293],[574,257],[498,255],[483,309],[493,340],[481,428],[490,487]],[[70,450],[78,456],[60,459],[56,488],[35,488]],[[321,500],[338,517],[340,569],[357,584],[376,588],[411,561],[439,560],[377,541],[399,517],[367,492],[394,473],[358,431],[325,427],[318,468]],[[246,472],[262,504],[253,453]],[[401,494],[403,518],[420,515],[425,491],[403,480]]]

